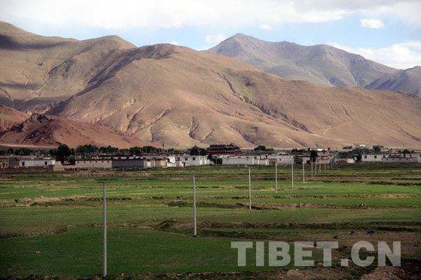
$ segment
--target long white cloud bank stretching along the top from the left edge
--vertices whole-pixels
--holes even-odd
[[[301,1],[305,2],[305,1]],[[276,25],[281,22],[327,22],[340,20],[343,8],[305,11],[293,0],[13,0],[2,4],[0,19],[34,22],[59,27],[185,27],[199,25]]]

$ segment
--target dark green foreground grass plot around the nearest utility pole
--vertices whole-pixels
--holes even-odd
[[[109,272],[163,274],[231,272],[236,266],[232,239],[173,232],[109,229]],[[1,239],[0,269],[5,275],[94,275],[102,271],[102,229],[76,227],[47,236]],[[131,256],[130,258],[127,258]],[[315,255],[319,258],[319,255]],[[256,269],[248,253],[250,267]],[[250,269],[248,267],[248,269]]]

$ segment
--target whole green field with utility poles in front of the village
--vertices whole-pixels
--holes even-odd
[[[197,237],[192,236],[193,173]],[[306,175],[302,182],[296,166],[292,188],[290,166],[280,166],[275,193],[274,166],[253,167],[249,211],[244,167],[0,173],[0,277],[101,274],[99,180],[109,180],[111,277],[206,272],[217,279],[225,275],[218,272],[239,272],[234,274],[239,278],[270,278],[293,268],[256,267],[254,251],[248,252],[246,267],[237,267],[230,242],[250,240],[339,241],[334,260],[356,241],[401,241],[404,266],[411,270],[419,264],[420,164],[349,164],[326,171],[322,166],[313,178],[308,170]],[[313,255],[321,262],[321,252]],[[358,279],[375,267],[337,269],[342,278]]]

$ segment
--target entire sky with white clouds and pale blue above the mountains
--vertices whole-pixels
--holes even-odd
[[[243,33],[329,44],[398,69],[421,65],[421,0],[0,0],[0,20],[44,36],[116,34],[196,50]]]

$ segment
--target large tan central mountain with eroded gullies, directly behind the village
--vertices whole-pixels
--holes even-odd
[[[50,114],[189,147],[419,146],[421,99],[286,81],[239,60],[172,45],[127,51]]]

